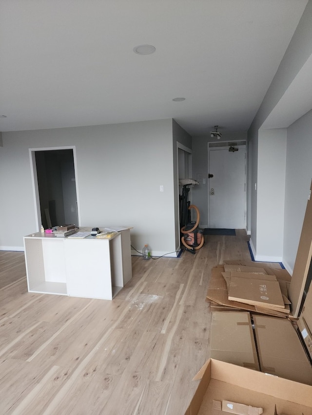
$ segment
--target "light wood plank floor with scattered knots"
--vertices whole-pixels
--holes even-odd
[[[0,415],[183,415],[210,353],[211,268],[250,260],[247,240],[133,257],[113,301],[28,293],[23,253],[0,252]]]

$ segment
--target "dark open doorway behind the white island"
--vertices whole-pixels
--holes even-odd
[[[38,227],[79,225],[74,148],[30,149]]]

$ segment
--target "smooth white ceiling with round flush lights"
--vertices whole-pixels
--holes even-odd
[[[306,4],[0,0],[0,131],[163,118],[193,136],[247,130]]]

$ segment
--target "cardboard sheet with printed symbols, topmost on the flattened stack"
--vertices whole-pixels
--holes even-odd
[[[285,308],[278,281],[231,277],[228,297],[253,306]]]

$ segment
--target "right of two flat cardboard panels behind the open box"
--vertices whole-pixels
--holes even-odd
[[[292,323],[261,315],[253,319],[260,370],[312,385],[312,367]]]

